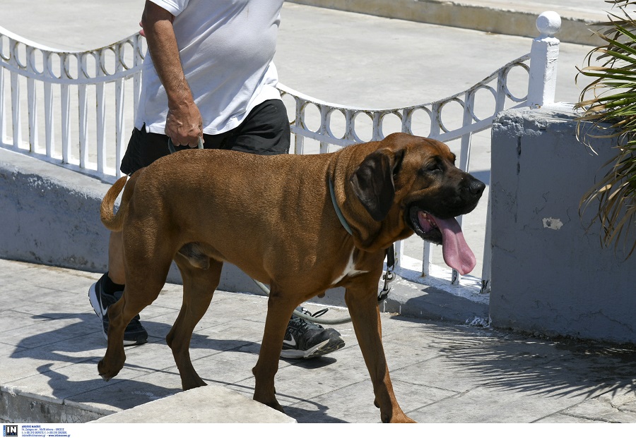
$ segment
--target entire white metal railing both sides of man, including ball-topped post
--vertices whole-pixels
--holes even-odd
[[[559,44],[553,35],[560,28],[558,14],[541,14],[537,28],[541,35],[533,40],[530,54],[507,63],[468,90],[436,102],[394,109],[364,109],[322,102],[279,85],[288,111],[293,113],[290,121],[293,152],[322,153],[329,150],[329,145],[345,147],[355,142],[380,140],[396,131],[413,133],[417,118],[418,123],[428,129],[425,136],[444,142],[461,141],[459,167],[467,171],[471,135],[490,128],[493,118],[502,109],[553,103]],[[124,121],[134,120],[145,53],[145,39],[138,34],[100,49],[71,52],[29,42],[0,28],[0,145],[103,181],[114,181],[121,176],[119,162],[128,132]],[[515,96],[508,88],[508,76],[513,68],[528,72],[525,96]],[[6,87],[6,76],[10,90]],[[114,89],[106,92],[105,87]],[[483,95],[490,96],[486,99]],[[490,111],[479,117],[476,109],[482,100],[490,101]],[[457,107],[457,104],[461,107],[461,126],[452,130],[444,123],[444,109],[451,105]],[[88,111],[90,107],[95,107],[94,114]],[[109,107],[114,111],[107,111]],[[40,111],[44,111],[44,117]],[[124,116],[126,111],[133,114]],[[308,127],[312,124],[316,128]],[[28,130],[28,141],[23,140],[23,130]],[[336,130],[341,135],[335,134]],[[370,130],[370,138],[367,135],[363,140],[362,130]],[[113,141],[109,141],[113,136]],[[309,151],[306,140],[316,142],[317,150]],[[114,145],[114,150],[109,145]],[[483,273],[481,284],[477,285],[477,290],[482,292],[489,290],[490,279],[489,213],[486,223]],[[399,243],[398,248],[398,267],[406,272],[407,267],[402,263],[404,245]],[[440,275],[439,270],[432,269],[431,254],[431,245],[425,244],[418,276]],[[457,272],[452,273],[450,281],[459,284]]]

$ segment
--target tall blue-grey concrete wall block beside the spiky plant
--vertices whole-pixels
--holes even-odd
[[[636,343],[636,256],[601,248],[598,224],[586,232],[593,208],[579,217],[612,142],[591,154],[574,117],[567,107],[517,109],[493,125],[490,317],[495,327]]]

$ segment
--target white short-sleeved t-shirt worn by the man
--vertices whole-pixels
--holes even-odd
[[[273,65],[283,0],[151,0],[175,16],[179,56],[206,134],[226,132],[280,99]],[[167,95],[150,54],[143,62],[136,128],[165,133]]]

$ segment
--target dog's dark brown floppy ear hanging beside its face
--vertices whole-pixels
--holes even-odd
[[[393,205],[395,185],[404,150],[380,149],[367,155],[349,179],[353,193],[376,221],[382,221]]]

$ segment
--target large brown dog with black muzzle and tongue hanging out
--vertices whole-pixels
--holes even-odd
[[[271,287],[253,369],[254,400],[283,410],[274,375],[292,312],[326,289],[343,286],[382,421],[411,421],[389,379],[377,286],[385,251],[413,231],[442,243],[444,260],[460,273],[474,267],[454,217],[476,207],[485,185],[457,169],[454,159],[442,142],[394,134],[331,154],[187,150],[158,159],[127,183],[119,179],[104,197],[101,214],[108,229],[123,230],[126,290],[108,308],[100,375],[110,379],[124,366],[124,328],[157,298],[174,259],[184,300],[167,344],[183,389],[204,385],[190,361],[189,342],[223,262],[230,262]]]

